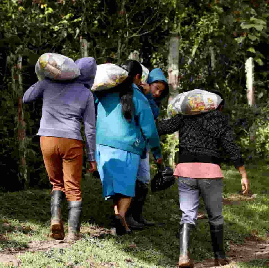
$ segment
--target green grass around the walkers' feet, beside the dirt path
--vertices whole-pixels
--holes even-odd
[[[241,190],[240,176],[232,167],[225,166],[223,170],[224,197],[229,198]],[[268,231],[269,166],[248,166],[247,172],[251,191],[257,193],[257,197],[252,201],[242,201],[240,204],[235,202],[223,207],[226,249],[229,248],[230,241],[234,244],[243,243],[244,238],[253,233],[259,238],[265,238]],[[100,179],[87,174],[82,189],[82,226],[110,228],[113,210],[111,203],[102,198]],[[26,248],[29,241],[46,241],[49,233],[49,204],[49,190],[1,193],[0,253],[10,248]],[[119,238],[105,235],[98,239],[84,234],[83,239],[71,248],[21,255],[20,267],[175,267],[179,255],[179,241],[175,234],[180,221],[177,185],[164,192],[150,194],[145,209],[146,217],[158,222],[158,226],[134,231],[132,235]],[[63,218],[66,220],[66,228],[66,203],[63,206]],[[192,241],[195,261],[213,257],[207,219],[198,221]],[[136,246],[130,247],[131,244]],[[267,262],[254,260],[240,263],[237,267],[266,267]],[[8,266],[0,264],[0,267]]]

